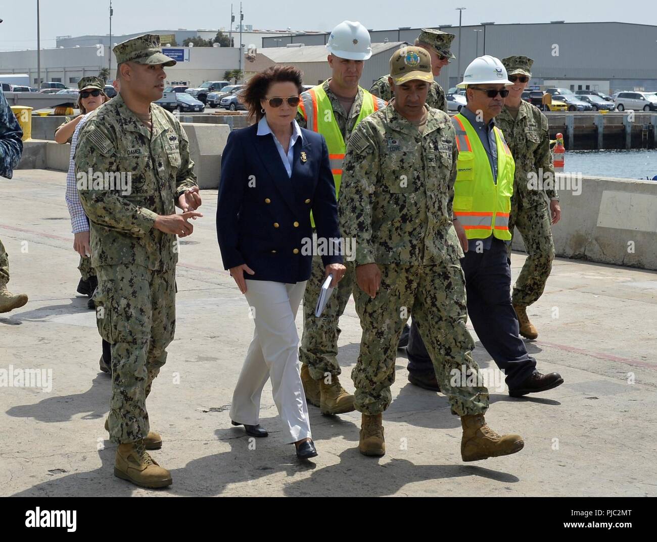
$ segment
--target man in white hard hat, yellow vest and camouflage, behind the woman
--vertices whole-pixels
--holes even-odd
[[[367,28],[359,22],[341,22],[330,33],[327,49],[331,77],[301,94],[296,120],[301,127],[325,137],[336,196],[339,196],[346,142],[358,123],[384,108],[386,102],[358,86],[365,60],[372,56]],[[313,246],[321,247],[319,241]],[[353,262],[348,260],[346,255],[347,272],[321,317],[315,316],[317,297],[325,278],[320,254],[313,254],[313,274],[304,295],[304,334],[299,349],[301,378],[307,402],[318,406],[323,414],[351,412],[354,408],[353,395],[340,385],[337,360],[338,320],[353,289]]]

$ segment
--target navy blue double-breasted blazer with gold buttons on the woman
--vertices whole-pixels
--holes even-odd
[[[248,265],[249,280],[296,283],[310,278],[313,211],[318,238],[339,238],[338,204],[324,136],[301,129],[288,177],[273,134],[258,124],[234,130],[221,156],[217,239],[225,269]],[[319,245],[319,243],[318,243]],[[342,263],[322,255],[324,265]]]

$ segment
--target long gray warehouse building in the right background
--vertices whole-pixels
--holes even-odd
[[[367,25],[366,21],[361,21]],[[443,89],[455,87],[463,80],[463,71],[477,56],[491,54],[504,58],[525,54],[534,59],[532,81],[537,88],[566,87],[613,93],[619,90],[657,91],[657,26],[623,22],[563,22],[537,24],[495,24],[458,26],[433,24],[453,33],[452,51],[457,58],[443,68],[436,79]],[[461,52],[459,54],[459,32]],[[370,30],[373,43],[413,43],[420,28]],[[265,49],[283,49],[288,44],[325,45],[329,33],[299,35],[290,33],[275,38],[263,37]],[[302,51],[298,48],[296,51]],[[392,54],[392,52],[391,52]],[[366,64],[367,70],[367,64]],[[381,68],[378,75],[368,73],[362,86],[371,79],[388,73]]]

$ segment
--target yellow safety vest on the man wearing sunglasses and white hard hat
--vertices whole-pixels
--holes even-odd
[[[502,132],[493,127],[497,142],[497,183],[476,131],[460,113],[452,117],[459,149],[454,184],[454,216],[463,225],[468,239],[487,238],[491,234],[510,240],[509,212],[513,194],[513,161]]]

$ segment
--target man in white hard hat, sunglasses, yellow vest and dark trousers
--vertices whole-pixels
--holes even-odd
[[[507,243],[515,163],[495,117],[513,84],[499,58],[486,55],[470,63],[457,85],[466,89],[467,105],[452,118],[459,148],[453,223],[465,253],[461,267],[470,322],[507,375],[509,395],[519,397],[556,388],[564,380],[559,373],[536,370],[511,304]],[[426,353],[424,345],[414,348]]]

